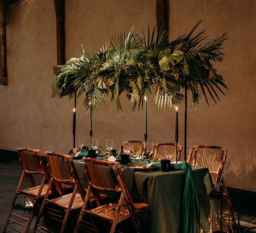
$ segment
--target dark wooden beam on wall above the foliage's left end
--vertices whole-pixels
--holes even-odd
[[[57,65],[63,65],[65,59],[65,0],[54,0],[56,14]]]

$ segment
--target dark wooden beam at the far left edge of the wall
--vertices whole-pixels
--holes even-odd
[[[6,4],[0,1],[0,84],[7,85],[7,65],[6,65]]]

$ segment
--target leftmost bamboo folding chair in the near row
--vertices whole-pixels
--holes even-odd
[[[12,226],[8,225],[9,221],[11,221],[11,222],[14,222],[14,223],[16,223],[20,226],[23,226],[25,228],[24,232],[26,233],[29,230],[31,221],[32,221],[33,216],[34,216],[36,206],[37,206],[38,201],[39,201],[39,198],[46,194],[46,191],[49,187],[48,184],[46,183],[49,179],[49,176],[46,173],[46,171],[42,170],[41,165],[40,165],[40,162],[41,163],[45,162],[44,156],[43,156],[41,150],[30,149],[30,148],[18,148],[17,151],[18,151],[18,154],[20,156],[19,161],[22,165],[23,171],[22,171],[22,175],[20,177],[20,181],[18,183],[16,192],[15,192],[15,195],[14,195],[14,198],[13,198],[13,202],[12,202],[10,211],[8,213],[8,216],[7,216],[6,223],[5,223],[4,228],[3,228],[3,232],[6,231],[7,227],[11,228],[14,231],[21,232],[20,230],[17,230],[15,228],[13,228]],[[35,180],[34,180],[32,174],[42,174],[43,175],[43,179],[42,179],[41,184],[39,186],[36,186],[36,183],[35,183]],[[23,179],[24,179],[25,176],[27,177],[28,182],[29,182],[31,187],[21,190],[20,189],[21,184],[22,184]],[[28,195],[28,196],[32,196],[35,199],[34,207],[31,211],[31,214],[30,214],[29,218],[22,217],[22,216],[12,212],[13,207],[14,207],[15,202],[16,202],[16,199],[17,199],[19,194],[25,194],[25,195]],[[23,220],[26,220],[27,225],[24,225],[22,223],[19,223],[15,220],[11,219],[11,215],[14,215],[14,216],[19,217]]]

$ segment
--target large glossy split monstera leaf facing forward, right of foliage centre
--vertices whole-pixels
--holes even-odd
[[[184,57],[181,50],[175,50],[173,53],[170,49],[162,50],[158,55],[158,63],[162,70],[167,71],[171,68],[169,67],[169,62],[174,66],[179,63]]]

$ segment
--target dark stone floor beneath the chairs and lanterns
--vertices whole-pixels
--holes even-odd
[[[15,190],[20,179],[21,171],[21,165],[17,160],[0,160],[0,232],[2,232],[3,225],[5,224]],[[35,176],[35,181],[37,183],[40,183],[41,177]],[[26,179],[24,179],[22,188],[27,187],[29,187],[29,183]],[[251,203],[256,203],[255,199],[249,201],[251,201]],[[23,203],[22,195],[18,196],[16,203]],[[238,203],[236,203],[234,207],[236,211],[236,216],[239,216],[240,223],[243,226],[244,232],[256,232],[256,210],[252,209],[252,205],[250,206],[246,203],[241,203],[242,202],[238,201]],[[29,213],[27,211],[14,210],[14,212],[18,213],[21,216],[29,217]],[[32,232],[35,220],[36,219],[34,218],[29,232]],[[19,222],[21,222],[21,220],[19,220]],[[22,226],[17,226],[17,224],[15,224],[15,227],[20,231],[24,230]],[[13,232],[13,230],[7,228],[6,232]]]

